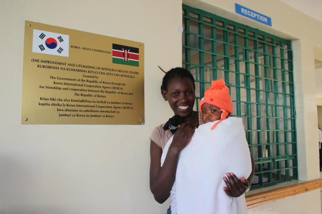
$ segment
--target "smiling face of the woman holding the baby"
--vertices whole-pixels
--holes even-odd
[[[187,117],[193,112],[196,94],[189,78],[172,78],[167,90],[162,90],[162,95],[164,100],[168,101],[174,115]]]

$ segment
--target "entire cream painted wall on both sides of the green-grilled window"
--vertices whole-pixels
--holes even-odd
[[[162,214],[149,190],[149,136],[172,116],[160,94],[163,74],[181,65],[181,0],[0,0],[0,212],[14,214]],[[300,179],[319,178],[314,44],[322,22],[279,0],[238,0],[272,18],[273,27],[234,13],[233,0],[184,0],[225,18],[294,40]],[[216,6],[214,6],[216,5]],[[263,6],[264,5],[264,6]],[[21,125],[24,21],[145,43],[145,126]],[[314,32],[314,33],[313,33]],[[315,129],[314,129],[315,128]],[[285,204],[320,209],[318,191],[256,208],[282,213]],[[268,208],[267,208],[268,207]],[[255,208],[254,208],[255,209]],[[301,210],[303,211],[303,210]],[[251,212],[255,212],[252,211]],[[308,213],[301,212],[301,214]],[[272,212],[271,212],[272,213]],[[308,214],[309,214],[308,213]]]

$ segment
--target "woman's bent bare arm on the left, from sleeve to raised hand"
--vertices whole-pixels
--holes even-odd
[[[185,148],[195,132],[187,124],[182,124],[176,131],[161,168],[162,149],[151,140],[150,154],[150,189],[157,202],[162,204],[169,196],[175,180],[179,154]]]

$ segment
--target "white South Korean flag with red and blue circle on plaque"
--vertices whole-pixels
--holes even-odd
[[[32,52],[68,57],[69,36],[34,29]]]

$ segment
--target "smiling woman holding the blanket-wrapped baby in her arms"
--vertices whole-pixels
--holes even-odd
[[[184,68],[171,69],[162,80],[161,94],[163,99],[168,101],[175,116],[170,118],[166,126],[162,124],[155,128],[150,137],[150,189],[156,201],[161,204],[170,196],[181,150],[189,144],[195,128],[202,124],[200,113],[193,111],[195,88],[193,76]],[[181,120],[184,123],[181,124]],[[178,124],[181,124],[179,128]],[[173,141],[161,168],[162,150],[174,132]],[[250,188],[254,164],[252,158],[253,171],[248,179],[239,180],[233,173],[227,173],[229,180],[223,178],[227,186],[224,187],[227,195],[239,197]]]

